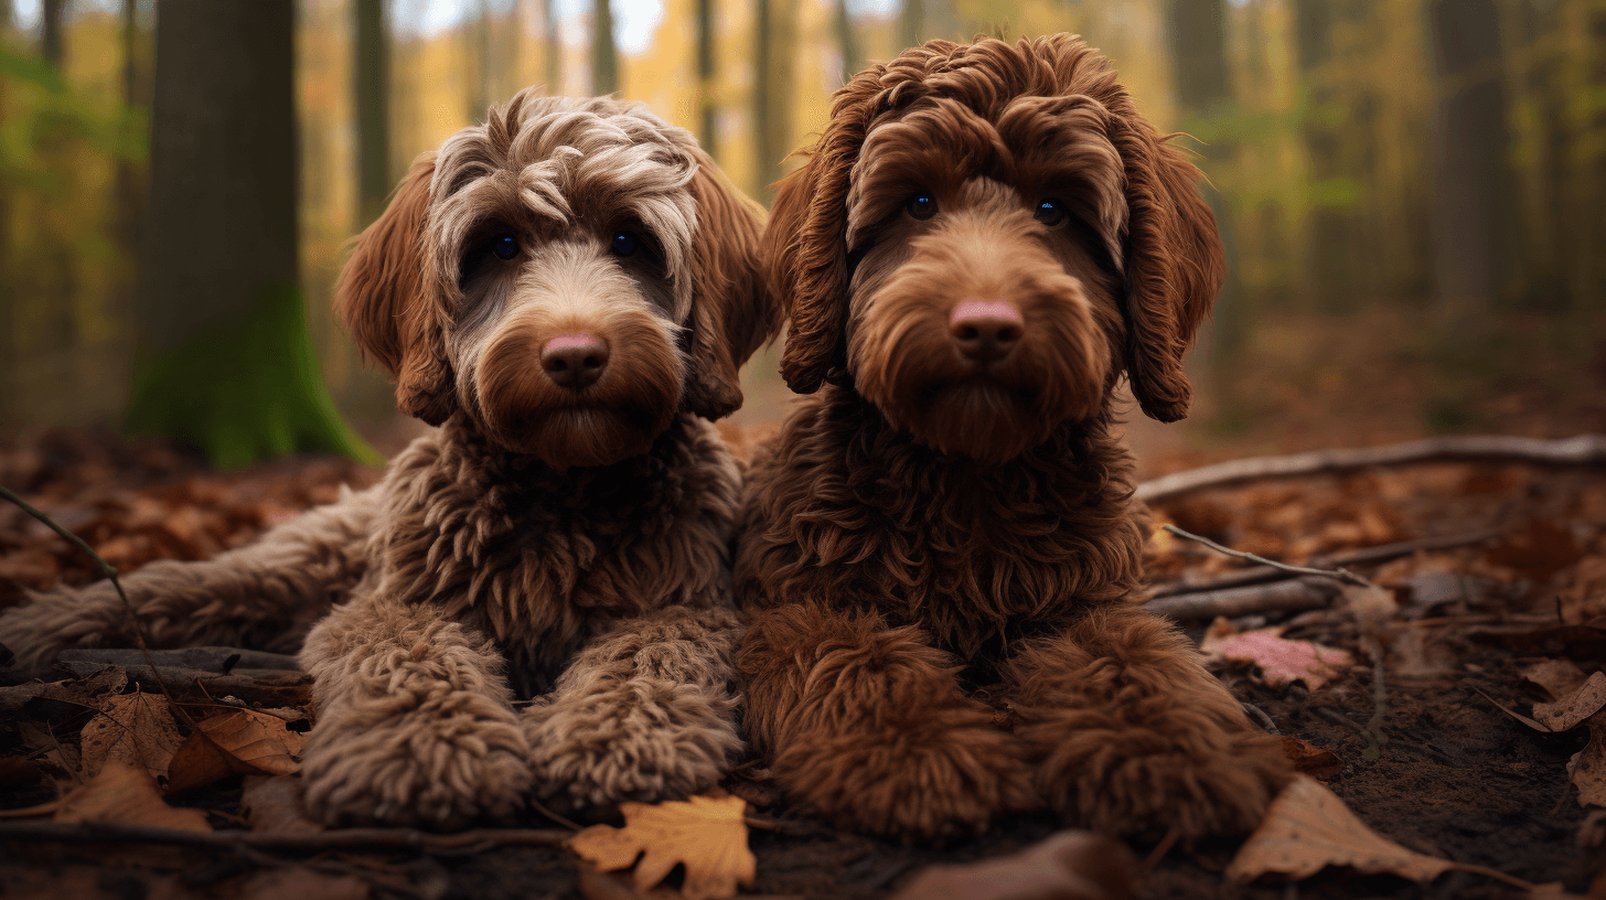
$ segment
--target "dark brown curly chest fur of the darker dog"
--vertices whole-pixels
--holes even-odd
[[[748,472],[737,598],[875,609],[973,661],[1139,587],[1131,469],[1108,419],[981,466],[829,386]]]

